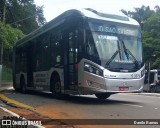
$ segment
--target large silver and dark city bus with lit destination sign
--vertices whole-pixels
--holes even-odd
[[[70,9],[13,47],[15,90],[54,95],[141,92],[145,68],[140,25],[123,13]]]

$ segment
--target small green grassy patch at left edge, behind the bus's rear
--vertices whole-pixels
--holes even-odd
[[[7,68],[5,65],[2,66],[2,81],[12,82],[12,69]]]

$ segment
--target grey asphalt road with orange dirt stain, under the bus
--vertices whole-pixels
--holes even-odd
[[[124,122],[124,125],[127,119],[133,119],[135,125],[130,127],[160,127],[160,122],[154,126],[136,125],[136,123],[143,124],[148,119],[153,119],[155,122],[156,119],[160,119],[160,97],[114,94],[106,100],[99,100],[92,95],[55,98],[48,93],[21,94],[14,90],[6,91],[4,94],[10,99],[33,107],[37,113],[51,119],[122,119],[120,121]]]

